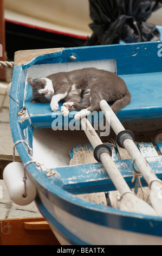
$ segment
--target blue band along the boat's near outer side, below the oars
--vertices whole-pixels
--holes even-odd
[[[71,215],[109,228],[162,236],[160,228],[162,227],[161,217],[134,214],[106,206],[93,205],[72,196],[72,194],[63,191],[54,184],[49,184],[49,181],[46,179],[38,179],[38,182],[38,190],[43,193],[51,203],[54,203]]]

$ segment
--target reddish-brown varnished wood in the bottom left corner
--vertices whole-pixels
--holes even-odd
[[[51,229],[26,229],[24,223],[43,222],[43,217],[0,220],[0,245],[60,245]],[[32,225],[32,224],[31,224]],[[48,226],[49,227],[49,226]]]

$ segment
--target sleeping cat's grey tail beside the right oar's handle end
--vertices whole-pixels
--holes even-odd
[[[124,97],[122,99],[116,100],[113,105],[111,106],[113,112],[117,114],[121,108],[127,106],[131,102],[131,94],[129,92],[126,92]],[[106,118],[103,119],[103,126],[105,127],[106,125]],[[98,135],[100,136],[101,130],[98,130]]]

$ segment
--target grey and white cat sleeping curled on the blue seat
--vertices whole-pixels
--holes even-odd
[[[28,82],[33,87],[30,102],[50,102],[51,110],[57,111],[58,102],[64,100],[62,115],[68,115],[69,109],[80,110],[74,117],[76,120],[100,111],[101,100],[113,103],[115,114],[131,101],[131,94],[122,78],[95,68],[59,72]]]

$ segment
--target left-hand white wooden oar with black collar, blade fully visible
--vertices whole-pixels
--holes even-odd
[[[99,145],[103,145],[101,139],[99,138],[87,118],[81,119],[81,126],[94,149]],[[111,155],[109,155],[109,153],[101,153],[99,157],[108,175],[112,179],[116,190],[118,190],[121,195],[120,209],[124,211],[137,212],[139,214],[157,215],[154,209],[149,204],[139,199],[131,191],[126,181],[122,177],[121,173],[119,172],[118,167],[112,160]]]

